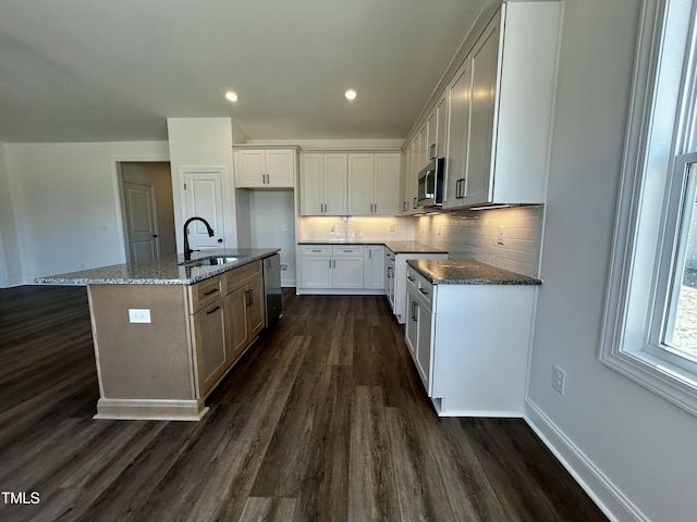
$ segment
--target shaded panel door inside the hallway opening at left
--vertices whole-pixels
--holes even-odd
[[[137,263],[158,258],[160,243],[157,233],[155,187],[124,182],[123,197],[126,210],[131,262]]]

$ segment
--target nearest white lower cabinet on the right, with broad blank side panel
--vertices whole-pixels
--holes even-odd
[[[431,285],[411,266],[405,286],[406,345],[438,414],[522,417],[537,286]]]

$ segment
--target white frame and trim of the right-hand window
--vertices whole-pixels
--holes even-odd
[[[664,215],[676,153],[673,144],[680,136],[677,132],[665,136],[664,128],[680,116],[682,82],[675,79],[683,67],[661,57],[674,57],[677,46],[684,49],[689,34],[690,16],[674,7],[692,9],[670,0],[643,2],[598,359],[697,414],[697,387],[689,376],[645,351],[660,284],[655,276],[661,262],[657,252],[661,253],[667,233],[667,221],[656,216]]]

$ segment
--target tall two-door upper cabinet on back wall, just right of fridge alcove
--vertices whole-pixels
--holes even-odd
[[[301,154],[301,215],[346,215],[345,153]]]

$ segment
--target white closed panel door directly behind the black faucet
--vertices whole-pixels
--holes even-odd
[[[186,215],[203,217],[215,234],[208,236],[206,225],[194,221],[188,225],[188,245],[194,250],[224,247],[225,229],[222,197],[222,171],[184,171],[184,195],[186,198]]]

